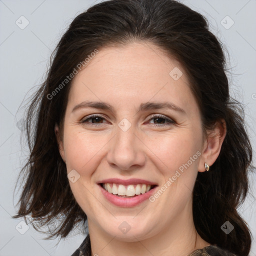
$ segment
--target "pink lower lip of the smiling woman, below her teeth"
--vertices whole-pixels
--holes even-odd
[[[154,194],[155,189],[157,188],[157,186],[155,186],[154,188],[150,189],[146,193],[139,194],[134,197],[128,198],[128,197],[120,197],[120,196],[114,195],[112,193],[108,193],[100,184],[98,184],[98,186],[100,187],[103,195],[109,202],[113,203],[116,206],[125,207],[125,208],[136,206],[139,203],[145,201],[152,194]]]

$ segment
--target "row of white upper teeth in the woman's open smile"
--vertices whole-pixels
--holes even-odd
[[[111,187],[112,185],[112,187]],[[143,194],[150,190],[151,185],[146,184],[136,184],[127,185],[126,187],[122,184],[115,183],[104,183],[103,188],[105,188],[108,193],[122,195],[122,196],[135,196],[138,194]]]

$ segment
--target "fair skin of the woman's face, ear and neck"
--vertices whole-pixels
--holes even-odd
[[[169,72],[178,67],[182,76],[174,80]],[[103,101],[114,112],[73,107],[85,100]],[[184,109],[154,109],[138,112],[144,102],[171,102]],[[89,119],[99,114],[103,119]],[[152,114],[165,115],[175,123]],[[126,118],[127,131],[118,123]],[[156,118],[156,119],[155,119]],[[91,124],[91,125],[89,125]],[[161,126],[167,124],[166,126]],[[94,125],[94,126],[92,126]],[[55,126],[58,135],[59,127]],[[203,139],[201,118],[181,64],[156,45],[134,42],[105,47],[73,79],[63,123],[59,151],[67,173],[80,177],[69,180],[74,197],[88,218],[92,255],[181,256],[210,245],[196,232],[192,219],[192,189],[197,172],[216,160],[225,136],[225,124]],[[154,202],[118,207],[108,202],[98,185],[105,178],[142,178],[159,184],[197,151],[200,156]],[[118,226],[126,221],[130,230]]]

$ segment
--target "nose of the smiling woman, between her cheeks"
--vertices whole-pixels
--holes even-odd
[[[145,145],[134,133],[132,126],[126,131],[117,126],[116,133],[109,142],[106,159],[112,167],[131,170],[145,164]]]

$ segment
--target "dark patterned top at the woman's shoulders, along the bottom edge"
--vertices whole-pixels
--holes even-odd
[[[71,256],[91,256],[90,237],[89,235],[83,240],[79,248]],[[197,249],[188,256],[237,256],[218,246],[209,245],[202,249]]]

